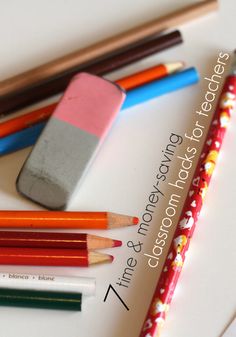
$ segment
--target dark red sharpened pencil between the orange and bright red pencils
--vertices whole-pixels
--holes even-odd
[[[84,233],[0,231],[0,247],[96,250],[121,245],[120,240]]]

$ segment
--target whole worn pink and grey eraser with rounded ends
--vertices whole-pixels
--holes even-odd
[[[23,165],[17,190],[46,208],[66,209],[124,99],[116,84],[76,75]]]

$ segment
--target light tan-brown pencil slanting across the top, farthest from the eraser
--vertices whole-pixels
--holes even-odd
[[[55,76],[69,68],[84,64],[93,59],[109,54],[133,44],[141,39],[153,36],[165,29],[190,21],[217,8],[216,0],[202,1],[185,8],[181,8],[171,14],[132,28],[126,32],[95,43],[92,46],[75,51],[69,55],[51,61],[47,64],[26,71],[0,83],[0,95],[6,95],[17,91],[22,87],[30,86],[45,78]]]

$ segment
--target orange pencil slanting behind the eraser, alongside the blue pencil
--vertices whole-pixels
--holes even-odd
[[[183,66],[183,62],[159,64],[155,67],[121,78],[117,80],[116,83],[125,90],[131,90],[135,87],[144,85],[145,83],[168,76],[169,74],[182,69]],[[0,137],[6,137],[14,132],[26,129],[31,125],[47,120],[53,113],[56,106],[57,103],[54,103],[0,123]]]

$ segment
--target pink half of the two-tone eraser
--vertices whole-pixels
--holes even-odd
[[[81,73],[72,79],[53,117],[102,138],[124,99],[125,94],[117,85]]]

